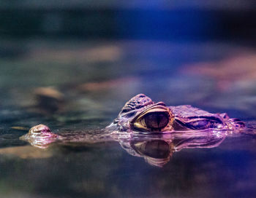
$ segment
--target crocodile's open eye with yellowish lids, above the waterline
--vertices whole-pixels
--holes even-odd
[[[132,122],[135,130],[166,131],[172,130],[173,114],[167,108],[152,108],[144,111]]]

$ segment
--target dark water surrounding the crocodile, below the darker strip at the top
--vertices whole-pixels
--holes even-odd
[[[41,123],[59,133],[102,129],[138,93],[254,124],[254,48],[34,40],[5,41],[0,52],[0,197],[256,196],[254,135],[227,137],[214,148],[184,148],[163,167],[116,141],[39,149],[19,140]]]

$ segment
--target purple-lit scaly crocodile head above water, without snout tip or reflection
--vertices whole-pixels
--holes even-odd
[[[211,114],[192,106],[166,106],[154,103],[146,95],[131,98],[110,124],[119,131],[175,132],[180,130],[225,129],[241,130],[245,127],[239,119],[227,114]]]

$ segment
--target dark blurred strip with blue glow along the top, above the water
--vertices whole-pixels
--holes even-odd
[[[12,39],[255,39],[255,2],[1,1],[1,36]]]

